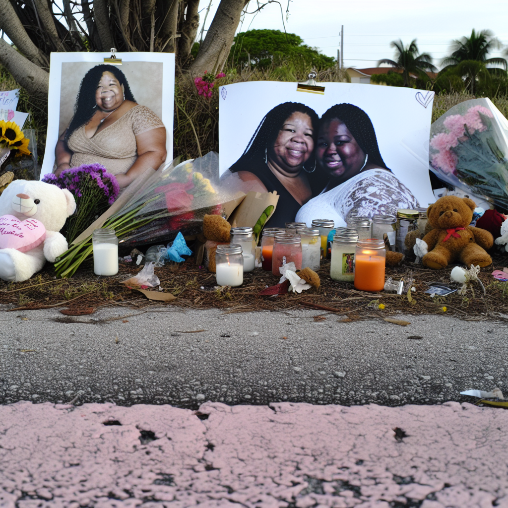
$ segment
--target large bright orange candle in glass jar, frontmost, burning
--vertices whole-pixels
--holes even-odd
[[[382,291],[385,288],[385,261],[383,240],[358,240],[355,250],[355,288],[360,291]]]

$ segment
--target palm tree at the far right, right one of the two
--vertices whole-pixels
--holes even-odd
[[[506,70],[508,62],[506,62],[505,58],[487,58],[493,49],[499,49],[501,46],[502,44],[494,37],[490,30],[482,30],[477,33],[473,28],[470,37],[462,37],[460,40],[456,39],[452,41],[450,49],[453,52],[450,56],[444,57],[442,63],[450,67],[456,66],[466,60],[476,60],[485,65],[489,63],[500,65]]]

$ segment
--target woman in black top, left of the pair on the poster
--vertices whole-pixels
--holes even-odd
[[[314,160],[318,116],[312,108],[285,102],[261,120],[240,158],[229,168],[262,192],[275,191],[279,204],[267,227],[284,227],[326,184]]]

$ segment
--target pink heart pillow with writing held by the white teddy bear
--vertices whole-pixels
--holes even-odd
[[[0,249],[28,252],[46,239],[46,228],[37,219],[21,222],[14,215],[0,217]]]

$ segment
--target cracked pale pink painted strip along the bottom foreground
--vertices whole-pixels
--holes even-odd
[[[207,402],[200,413],[0,406],[0,508],[508,507],[502,409]]]

